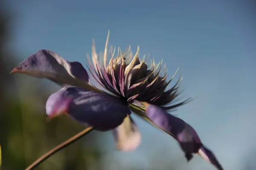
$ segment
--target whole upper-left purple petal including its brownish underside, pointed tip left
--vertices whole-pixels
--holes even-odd
[[[66,61],[55,52],[46,49],[30,55],[15,67],[11,73],[48,78],[61,86],[69,84],[100,92],[100,90],[88,84],[89,76],[81,63]]]

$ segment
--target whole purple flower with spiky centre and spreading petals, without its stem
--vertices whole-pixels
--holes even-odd
[[[198,153],[218,170],[223,170],[213,153],[201,143],[195,130],[167,112],[186,104],[190,98],[173,104],[180,94],[179,81],[171,89],[166,89],[172,79],[166,81],[166,75],[160,76],[162,63],[156,66],[153,62],[148,68],[146,61],[138,57],[139,47],[133,58],[130,48],[124,52],[118,49],[116,57],[115,49],[114,52],[107,49],[108,38],[104,54],[99,54],[102,60],[99,60],[93,44],[92,63],[89,61],[88,68],[92,75],[90,78],[81,63],[66,61],[46,49],[30,55],[12,73],[47,78],[62,86],[47,100],[46,113],[49,118],[64,114],[95,130],[113,130],[119,150],[129,151],[136,149],[141,141],[140,132],[130,117],[133,111],[172,135],[180,144],[187,161],[191,160],[192,154]],[[108,55],[111,55],[111,59],[107,64]],[[104,90],[93,86],[91,78]]]

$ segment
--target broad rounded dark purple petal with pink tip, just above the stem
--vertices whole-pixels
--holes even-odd
[[[101,131],[118,127],[126,115],[131,114],[120,98],[78,87],[64,87],[52,94],[47,100],[46,112],[50,117],[66,112],[76,121]]]

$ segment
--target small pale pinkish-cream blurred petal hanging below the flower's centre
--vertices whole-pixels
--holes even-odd
[[[134,121],[129,115],[123,123],[113,130],[116,147],[122,151],[135,150],[141,142],[141,134]]]

